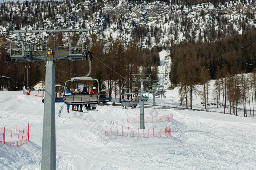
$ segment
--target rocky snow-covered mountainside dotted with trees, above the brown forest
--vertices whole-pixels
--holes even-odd
[[[170,46],[183,40],[214,41],[256,27],[253,0],[197,5],[124,0],[48,1],[46,4],[34,1],[2,4],[2,8],[1,16],[8,14],[7,20],[21,29],[93,28],[97,39],[137,38],[141,47]],[[47,41],[47,36],[35,36],[35,41],[39,39]]]

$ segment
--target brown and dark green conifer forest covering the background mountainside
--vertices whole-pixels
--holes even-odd
[[[1,25],[7,20],[13,28],[66,29],[74,28],[75,25],[78,28],[93,27],[95,31],[84,38],[84,44],[95,56],[90,76],[108,80],[107,88],[110,90],[115,90],[114,86],[120,88],[124,81],[131,81],[131,74],[152,73],[153,80],[157,80],[157,66],[160,63],[158,52],[162,49],[169,49],[172,59],[170,88],[181,87],[181,104],[186,103],[187,107],[192,106],[189,98],[192,99],[193,93],[196,93],[195,85],[203,84],[207,87],[208,80],[216,79],[217,82],[222,82],[219,83],[222,84],[222,93],[220,85],[216,88],[220,97],[223,93],[227,94],[228,76],[253,72],[256,66],[254,0],[129,0],[122,3],[109,0],[33,0],[22,3],[8,1],[0,5]],[[123,10],[118,8],[120,6],[125,7],[126,12],[118,11]],[[145,6],[150,10],[144,9]],[[0,34],[11,36],[8,31],[1,31]],[[53,47],[67,43],[68,37],[77,40],[79,34],[34,34],[33,37],[35,43]],[[24,38],[27,40],[26,36]],[[27,74],[29,87],[40,80],[44,81],[44,62],[14,64],[5,61],[10,43],[10,40],[0,38],[0,83],[2,84],[2,76],[7,76],[14,82],[12,90],[21,90],[26,84]],[[114,74],[105,65],[123,77]],[[86,61],[57,61],[55,68],[56,84],[61,85],[68,79],[86,75],[89,71]],[[223,78],[227,79],[224,81]],[[242,82],[232,80],[233,84]],[[72,86],[76,88],[78,84]],[[131,83],[128,86],[131,88]],[[234,90],[235,87],[232,88],[237,92],[236,99],[232,101],[241,102],[238,99],[244,95],[241,95],[241,91]],[[203,96],[205,103],[206,94],[207,92]],[[230,94],[230,101],[231,96]],[[219,99],[221,100],[224,101],[225,97]],[[233,102],[233,106],[234,103],[236,102]]]

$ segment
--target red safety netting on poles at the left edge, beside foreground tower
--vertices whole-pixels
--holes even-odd
[[[0,128],[0,144],[20,146],[26,142],[29,142],[29,125],[28,129],[19,131]]]

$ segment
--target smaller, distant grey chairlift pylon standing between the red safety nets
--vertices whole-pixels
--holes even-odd
[[[143,82],[150,82],[152,74],[132,74],[135,82],[140,82],[140,96],[143,96]],[[140,77],[140,78],[139,78]],[[144,79],[143,79],[144,78]],[[140,100],[140,129],[145,129],[144,121],[144,100]]]

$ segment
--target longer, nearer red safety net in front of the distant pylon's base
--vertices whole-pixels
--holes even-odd
[[[167,127],[165,129],[135,129],[130,127],[113,127],[106,126],[105,136],[125,136],[125,137],[171,137],[172,129]]]

